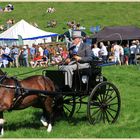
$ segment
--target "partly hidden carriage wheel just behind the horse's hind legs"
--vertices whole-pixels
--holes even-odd
[[[66,118],[71,118],[75,111],[75,96],[63,96],[63,111]]]

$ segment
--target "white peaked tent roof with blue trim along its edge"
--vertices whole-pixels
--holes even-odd
[[[22,39],[25,41],[31,41],[43,38],[47,39],[57,35],[57,33],[46,32],[41,29],[38,29],[22,19],[21,21],[13,25],[11,28],[1,33],[0,41],[16,41],[19,39],[19,36],[21,36]]]

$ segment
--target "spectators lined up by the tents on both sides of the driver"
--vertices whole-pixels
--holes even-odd
[[[104,63],[116,62],[118,65],[135,65],[136,54],[140,55],[140,42],[133,40],[130,45],[117,42],[99,42],[91,45],[95,57]],[[33,44],[8,47],[0,46],[0,67],[48,67],[61,64],[68,56],[68,49],[61,44],[50,47],[49,44]]]

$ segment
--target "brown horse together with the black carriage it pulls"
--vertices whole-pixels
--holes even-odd
[[[82,104],[87,105],[87,118],[91,124],[100,121],[114,123],[120,113],[120,93],[116,86],[102,75],[102,65],[104,64],[100,61],[93,61],[90,68],[74,71],[72,88],[65,85],[66,72],[60,70],[46,69],[43,70],[42,76],[31,76],[21,81],[7,75],[2,76],[0,80],[1,135],[4,124],[3,111],[24,109],[29,106],[43,109],[41,121],[44,126],[48,126],[48,132],[52,129],[54,108],[70,118],[74,112],[79,111]],[[9,98],[9,101],[2,100],[3,96]]]

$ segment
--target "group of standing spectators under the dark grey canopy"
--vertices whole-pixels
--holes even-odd
[[[104,63],[115,62],[118,65],[135,65],[137,55],[140,56],[140,42],[133,40],[130,44],[120,45],[100,42],[92,45],[94,56],[102,59]]]

